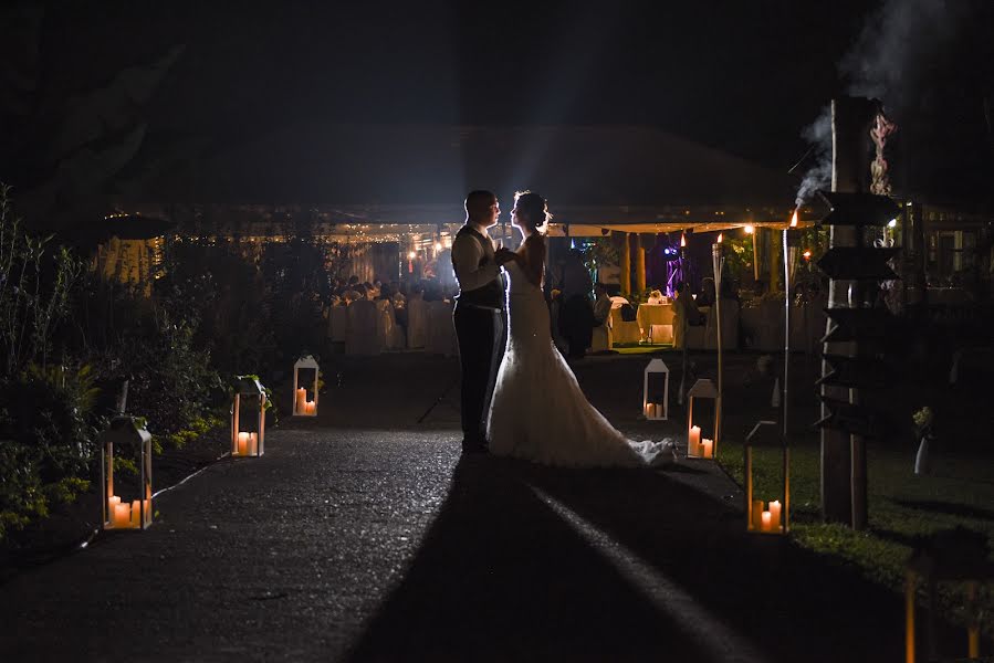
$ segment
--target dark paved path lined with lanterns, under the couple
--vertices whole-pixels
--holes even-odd
[[[644,365],[578,370],[632,436]],[[743,535],[712,465],[460,459],[453,362],[336,369],[321,419],[271,431],[264,457],[219,462],[147,532],[0,586],[0,661],[900,657],[900,601]]]

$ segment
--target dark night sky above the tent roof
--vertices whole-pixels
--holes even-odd
[[[917,74],[889,91],[899,115],[982,144],[988,0],[50,3],[42,67],[72,88],[186,44],[149,105],[146,157],[179,136],[218,149],[314,122],[634,124],[783,170],[846,92],[839,62],[868,17],[909,3],[949,6],[949,34],[899,35],[911,52],[888,66]]]

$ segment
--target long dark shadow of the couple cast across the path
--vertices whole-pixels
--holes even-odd
[[[665,474],[463,459],[350,660],[900,659],[898,597],[740,519]]]

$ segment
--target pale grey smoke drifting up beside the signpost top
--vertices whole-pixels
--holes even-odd
[[[931,60],[955,35],[965,2],[960,0],[885,0],[867,20],[852,48],[839,62],[850,96],[877,98],[892,112],[913,98]],[[804,176],[796,204],[831,183],[831,113],[822,112],[802,131],[815,166]]]

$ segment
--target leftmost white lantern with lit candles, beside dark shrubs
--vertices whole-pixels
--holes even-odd
[[[115,417],[111,428],[101,434],[101,495],[104,514],[104,529],[145,529],[151,525],[151,434],[145,430],[140,419],[127,415]],[[114,452],[118,456],[128,454],[137,461],[138,486],[129,487],[130,495],[114,485]],[[128,460],[130,460],[128,459]],[[133,498],[137,495],[137,498]]]

